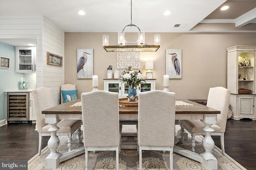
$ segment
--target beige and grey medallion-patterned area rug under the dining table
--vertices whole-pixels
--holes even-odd
[[[176,125],[176,133],[180,129],[179,125]],[[124,133],[136,133],[136,127],[134,125],[123,125],[122,131]],[[68,151],[68,138],[61,136],[60,145],[58,146],[58,152],[63,153]],[[178,146],[190,149],[190,134],[188,134],[188,140],[184,140]],[[203,136],[196,136],[196,152],[204,152],[202,146]],[[137,140],[136,136],[124,136],[122,142],[134,142]],[[73,140],[73,149],[79,148],[83,144],[78,144],[76,140]],[[28,170],[45,170],[45,158],[50,154],[49,148],[46,146],[42,150],[40,156],[34,156],[28,161]],[[246,170],[238,162],[232,159],[227,154],[222,155],[221,150],[215,146],[212,150],[212,154],[218,160],[218,170]],[[142,152],[142,168],[144,170],[169,170],[170,152],[166,151],[148,151]],[[76,156],[70,160],[61,162],[56,170],[84,170],[84,154]],[[88,154],[88,169],[89,170],[112,170],[116,167],[116,152],[115,151],[98,151],[89,152]],[[136,149],[122,149],[119,154],[119,169],[121,170],[138,170],[139,169],[139,153]],[[204,170],[204,167],[200,162],[186,158],[180,154],[173,153],[173,169],[174,170]]]

